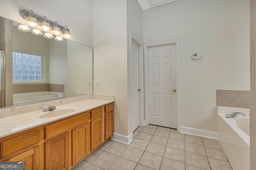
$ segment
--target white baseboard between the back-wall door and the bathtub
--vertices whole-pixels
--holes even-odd
[[[212,131],[205,131],[205,130],[201,130],[201,129],[194,129],[194,128],[190,128],[190,127],[181,126],[180,132],[186,133],[189,135],[206,137],[206,138],[210,138],[210,139],[217,139],[217,132],[212,132]]]

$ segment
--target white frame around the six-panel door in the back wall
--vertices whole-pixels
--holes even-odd
[[[148,48],[162,45],[176,45],[177,57],[177,130],[180,132],[180,40],[174,39],[157,43],[144,44],[144,90],[145,90],[145,124],[148,125]]]

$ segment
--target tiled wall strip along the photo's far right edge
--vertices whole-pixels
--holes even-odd
[[[256,170],[256,0],[250,0],[250,169]]]

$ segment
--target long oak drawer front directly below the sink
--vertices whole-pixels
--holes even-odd
[[[90,119],[90,113],[86,112],[81,115],[72,117],[70,119],[66,119],[64,121],[60,121],[58,123],[54,123],[52,125],[45,127],[45,139],[49,139],[55,137],[56,135],[60,135],[68,129],[75,127],[81,123],[84,123]]]

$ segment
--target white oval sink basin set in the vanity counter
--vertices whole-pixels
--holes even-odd
[[[40,111],[39,113],[44,113],[43,115],[40,116],[40,118],[49,118],[49,117],[56,117],[56,116],[62,116],[62,115],[66,115],[69,113],[72,113],[74,111],[76,111],[77,107],[57,107],[56,110],[52,110],[52,111]]]

